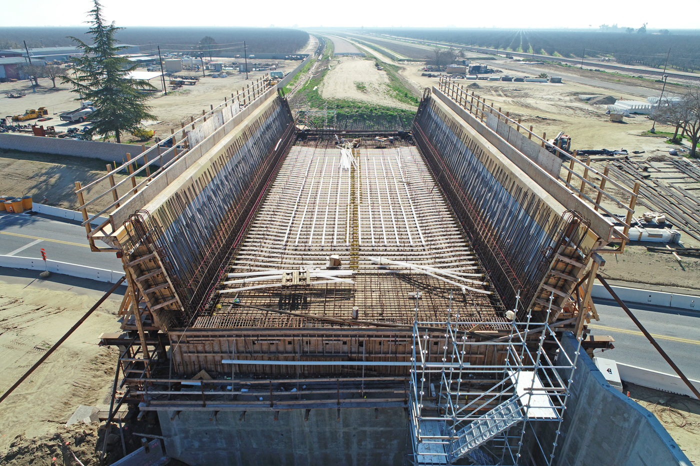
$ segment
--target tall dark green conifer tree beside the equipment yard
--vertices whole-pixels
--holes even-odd
[[[114,22],[106,24],[98,0],[94,0],[94,8],[88,13],[91,27],[85,34],[92,36],[92,45],[69,37],[85,55],[72,59],[71,73],[64,76],[62,83],[73,85],[71,92],[80,96],[76,100],[92,101],[95,111],[90,114],[90,136],[114,135],[120,142],[120,132],[137,129],[141,120],[156,119],[149,113],[148,94],[140,92],[156,88],[147,80],[129,78],[137,65],[117,55],[125,46],[115,45],[116,33],[123,28]]]

